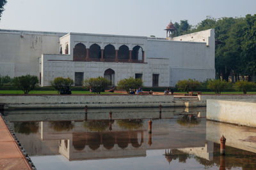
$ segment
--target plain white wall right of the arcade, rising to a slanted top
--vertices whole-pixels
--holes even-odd
[[[150,38],[147,50],[147,58],[169,59],[169,86],[188,78],[198,81],[215,78],[214,29],[179,36],[170,41]]]

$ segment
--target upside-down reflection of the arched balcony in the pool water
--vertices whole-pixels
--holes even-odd
[[[72,133],[62,139],[59,152],[68,160],[145,157],[143,131]]]

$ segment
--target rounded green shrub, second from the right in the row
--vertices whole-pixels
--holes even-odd
[[[229,83],[225,80],[220,80],[220,79],[209,80],[208,85],[207,85],[207,88],[214,91],[215,94],[220,94],[228,87],[229,87]]]

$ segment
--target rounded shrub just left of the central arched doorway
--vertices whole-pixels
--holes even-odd
[[[92,89],[92,92],[100,94],[100,92],[104,92],[104,90],[111,85],[111,81],[99,76],[97,78],[84,80],[84,85],[86,88]]]

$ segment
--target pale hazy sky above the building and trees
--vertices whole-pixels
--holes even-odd
[[[164,37],[170,20],[244,17],[255,0],[8,0],[0,29]]]

